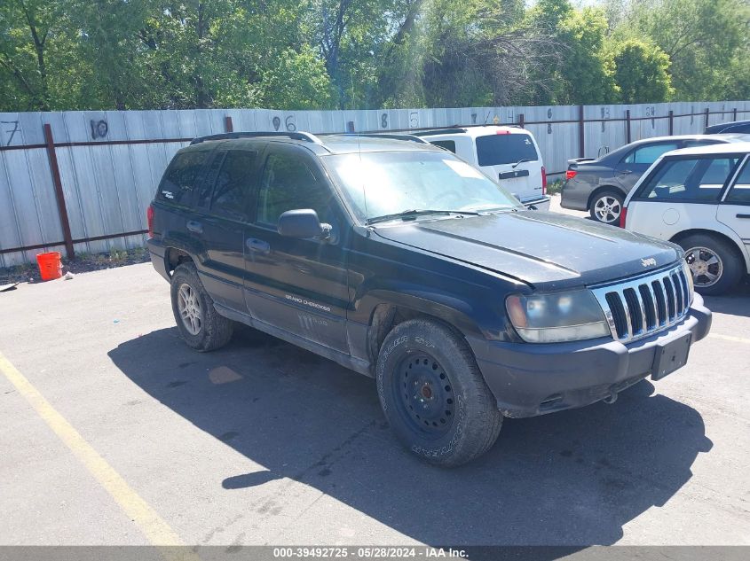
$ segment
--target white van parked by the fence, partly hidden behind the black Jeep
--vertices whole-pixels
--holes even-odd
[[[525,206],[549,209],[547,174],[533,135],[520,127],[481,125],[412,133],[454,152],[512,192]]]

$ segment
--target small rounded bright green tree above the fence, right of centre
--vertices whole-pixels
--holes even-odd
[[[622,103],[659,103],[674,93],[669,57],[658,46],[629,39],[614,46],[612,57]]]

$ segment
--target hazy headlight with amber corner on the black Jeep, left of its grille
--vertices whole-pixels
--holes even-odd
[[[604,312],[586,289],[512,295],[505,300],[510,323],[529,343],[558,343],[612,336]]]

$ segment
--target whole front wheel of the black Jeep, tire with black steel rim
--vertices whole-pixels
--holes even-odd
[[[430,464],[465,464],[497,440],[497,402],[466,340],[446,324],[399,323],[383,341],[375,378],[393,431]]]

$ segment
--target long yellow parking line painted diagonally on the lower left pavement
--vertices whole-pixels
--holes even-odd
[[[186,547],[178,534],[170,528],[162,517],[125,482],[125,479],[122,479],[117,471],[114,471],[111,465],[107,464],[107,460],[83,439],[81,433],[76,431],[73,425],[68,423],[65,417],[62,417],[51,406],[50,402],[39,393],[36,387],[31,385],[31,382],[2,353],[0,353],[0,371],[36,410],[39,417],[42,417],[51,430],[58,435],[67,448],[70,448],[91,475],[99,481],[99,484],[107,490],[107,493],[112,495],[115,503],[120,505],[125,514],[146,535],[148,541],[158,546],[175,546],[161,549],[164,557],[169,558],[170,561],[177,559],[199,560],[199,557]]]

